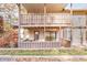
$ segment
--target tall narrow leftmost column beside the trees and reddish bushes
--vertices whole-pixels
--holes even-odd
[[[21,29],[21,25],[20,25],[20,22],[21,22],[21,4],[20,4],[20,3],[18,3],[18,8],[19,8],[18,47],[20,47],[20,44],[21,44],[21,39],[20,39],[20,29]]]

